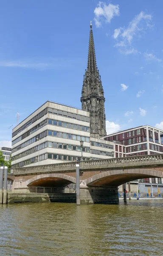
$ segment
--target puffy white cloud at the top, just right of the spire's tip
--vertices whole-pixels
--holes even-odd
[[[96,27],[100,27],[102,25],[102,21],[110,23],[114,16],[120,15],[119,5],[114,5],[111,3],[106,5],[106,3],[99,1],[97,7],[94,10],[94,14]]]

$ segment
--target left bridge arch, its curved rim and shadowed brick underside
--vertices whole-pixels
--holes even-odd
[[[34,187],[63,187],[70,183],[76,183],[76,178],[65,174],[42,174],[26,181],[27,186]]]

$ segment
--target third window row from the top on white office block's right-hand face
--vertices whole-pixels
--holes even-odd
[[[69,140],[79,140],[79,141],[82,140],[85,142],[90,141],[89,137],[84,137],[84,136],[75,135],[75,134],[67,134],[67,133],[63,133],[59,131],[51,131],[51,130],[48,130],[48,136],[54,136],[54,137],[59,137],[59,138],[69,139]]]

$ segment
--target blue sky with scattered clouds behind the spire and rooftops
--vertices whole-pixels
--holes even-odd
[[[90,20],[107,133],[163,129],[163,1],[7,0],[0,8],[0,146],[47,100],[81,107]]]

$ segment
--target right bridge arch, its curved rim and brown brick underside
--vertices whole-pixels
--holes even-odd
[[[151,169],[125,169],[101,172],[85,180],[87,186],[120,186],[126,182],[149,178],[160,177],[163,178],[163,172]]]

